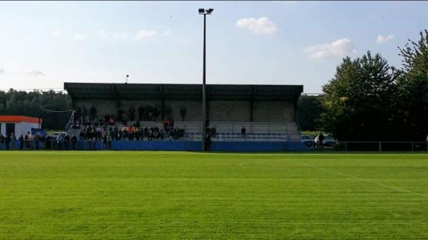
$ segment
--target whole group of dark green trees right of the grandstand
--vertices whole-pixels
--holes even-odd
[[[344,58],[323,95],[300,97],[302,130],[330,132],[339,140],[426,140],[428,31],[398,52],[401,68],[370,51]]]

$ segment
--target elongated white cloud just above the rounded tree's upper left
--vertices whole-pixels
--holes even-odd
[[[305,48],[305,53],[309,58],[344,57],[356,52],[354,43],[347,38]]]

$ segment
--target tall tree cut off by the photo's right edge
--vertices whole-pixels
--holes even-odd
[[[419,41],[410,39],[399,48],[403,75],[397,82],[399,115],[403,133],[411,140],[425,140],[428,134],[428,31],[419,33]]]

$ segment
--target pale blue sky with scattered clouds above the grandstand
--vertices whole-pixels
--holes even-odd
[[[397,46],[428,28],[424,1],[0,2],[0,89],[63,82],[304,85],[320,93],[344,56]]]

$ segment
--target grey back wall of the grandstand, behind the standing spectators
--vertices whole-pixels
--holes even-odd
[[[161,100],[121,100],[121,108],[128,111],[146,105],[162,108]],[[116,100],[75,100],[75,105],[83,106],[89,113],[95,106],[98,117],[117,114]],[[208,116],[213,122],[250,122],[251,103],[248,100],[208,100]],[[171,108],[172,117],[181,121],[180,110],[186,108],[185,121],[200,121],[202,103],[198,100],[165,100],[165,110]],[[295,104],[291,101],[254,101],[253,122],[292,122],[295,116]]]

